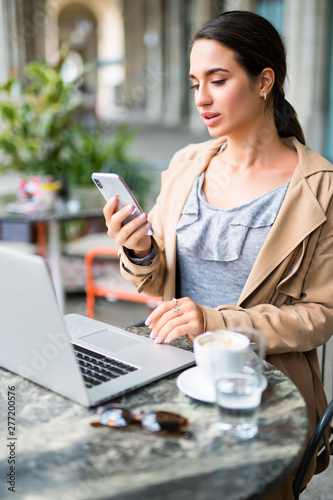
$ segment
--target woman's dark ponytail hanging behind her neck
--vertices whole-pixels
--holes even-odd
[[[292,105],[285,99],[284,92],[276,92],[274,96],[274,119],[280,137],[294,136],[305,145],[302,127],[298,121],[297,113]]]

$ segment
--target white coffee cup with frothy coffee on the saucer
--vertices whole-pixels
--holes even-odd
[[[213,382],[242,369],[249,339],[231,330],[214,330],[194,339],[194,356],[202,374]]]

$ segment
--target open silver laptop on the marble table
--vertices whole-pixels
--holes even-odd
[[[62,316],[37,255],[0,248],[0,308],[0,366],[86,407],[195,364],[190,351]]]

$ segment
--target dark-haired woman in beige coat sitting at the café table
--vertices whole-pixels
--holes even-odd
[[[176,153],[149,222],[121,227],[133,208],[115,213],[112,199],[108,234],[122,246],[122,274],[163,295],[146,321],[155,342],[262,330],[268,361],[306,399],[312,433],[327,404],[316,348],[333,331],[332,165],[305,146],[284,97],[284,46],[264,18],[234,11],[204,25],[189,76],[214,139]],[[314,460],[307,480],[327,463]],[[293,498],[291,484],[270,498]]]

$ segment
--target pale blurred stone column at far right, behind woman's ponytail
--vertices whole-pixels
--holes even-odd
[[[298,113],[308,145],[323,151],[330,0],[286,0],[285,33],[290,85],[286,97]]]

